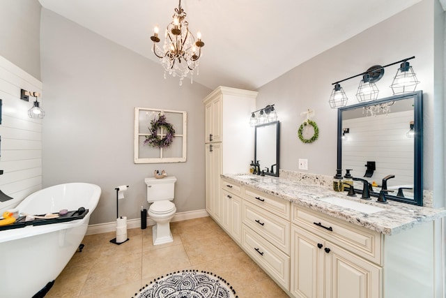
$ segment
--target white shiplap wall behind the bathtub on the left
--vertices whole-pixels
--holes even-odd
[[[0,202],[0,212],[15,207],[42,188],[42,121],[28,117],[34,97],[20,99],[20,89],[42,93],[42,82],[0,56],[0,190],[14,200]],[[40,106],[42,97],[38,98]],[[45,107],[43,107],[45,110]]]

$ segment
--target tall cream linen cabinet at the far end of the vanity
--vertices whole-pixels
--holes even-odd
[[[249,126],[249,116],[256,110],[257,94],[220,86],[203,99],[206,211],[218,223],[224,216],[220,174],[247,173],[254,159],[254,129]]]

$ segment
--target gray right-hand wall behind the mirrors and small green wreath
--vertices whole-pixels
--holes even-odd
[[[332,82],[362,73],[376,64],[390,64],[415,56],[410,64],[421,81],[417,90],[424,91],[424,188],[433,190],[434,184],[443,188],[444,175],[438,177],[433,174],[443,172],[443,163],[433,162],[434,154],[444,154],[444,144],[434,145],[433,140],[437,130],[443,131],[443,114],[434,113],[434,107],[443,102],[443,87],[441,84],[434,84],[434,81],[443,77],[443,59],[438,61],[438,56],[441,56],[438,54],[434,58],[434,49],[443,51],[443,47],[438,46],[434,39],[434,22],[440,23],[443,28],[443,22],[438,19],[444,19],[438,1],[424,0],[259,88],[257,107],[275,103],[279,120],[282,121],[282,169],[335,174],[337,110],[330,109],[328,104]],[[443,36],[437,34],[436,37],[440,38],[441,44]],[[389,86],[397,68],[398,66],[385,68],[384,77],[377,82],[380,98],[392,96]],[[360,77],[357,77],[341,83],[349,98],[348,105],[357,103],[355,93],[359,82]],[[307,109],[316,111],[313,119],[319,127],[319,138],[311,144],[300,142],[297,135],[300,124],[305,120],[300,112]],[[298,170],[298,158],[308,159],[308,171]],[[437,206],[443,204],[443,190],[436,189],[435,195]]]

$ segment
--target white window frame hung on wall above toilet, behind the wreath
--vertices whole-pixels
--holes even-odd
[[[181,128],[175,128],[176,132],[179,131],[180,133],[175,133],[174,142],[182,142],[181,143],[181,153],[178,156],[170,156],[170,157],[164,157],[164,150],[163,148],[156,148],[151,147],[148,145],[144,145],[145,148],[147,147],[148,150],[157,150],[159,151],[158,158],[146,158],[141,157],[140,152],[140,137],[144,137],[146,135],[150,135],[148,127],[150,126],[150,121],[143,122],[144,124],[141,124],[140,119],[140,112],[146,111],[146,114],[151,113],[155,114],[156,116],[158,114],[181,114],[182,121],[181,121]],[[167,119],[169,121],[169,119]],[[143,126],[144,127],[141,127]],[[162,133],[161,137],[164,137],[164,133]],[[180,140],[181,138],[181,140]],[[173,143],[172,143],[173,144]],[[151,109],[146,107],[135,107],[134,108],[134,163],[185,163],[186,161],[186,154],[187,154],[187,112],[184,111],[174,111],[174,110],[162,110],[162,109]],[[142,151],[142,149],[141,149]]]

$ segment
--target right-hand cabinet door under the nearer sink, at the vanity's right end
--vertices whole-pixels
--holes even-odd
[[[331,298],[378,298],[382,269],[338,246],[326,242],[325,290]]]

